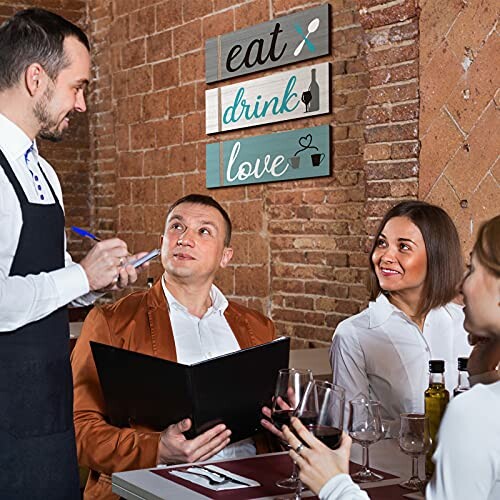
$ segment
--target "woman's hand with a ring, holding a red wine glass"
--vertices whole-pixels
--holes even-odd
[[[342,433],[340,448],[331,450],[316,439],[296,417],[292,417],[291,427],[300,437],[295,436],[288,427],[283,426],[283,434],[292,447],[290,457],[299,466],[300,480],[316,495],[329,479],[338,474],[349,473],[349,457],[352,439]],[[297,453],[297,447],[305,444]]]

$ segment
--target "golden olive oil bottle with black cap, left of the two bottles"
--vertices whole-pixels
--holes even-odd
[[[424,393],[425,415],[429,418],[429,434],[432,439],[431,447],[427,452],[425,461],[425,475],[430,478],[434,473],[432,455],[436,449],[436,436],[439,424],[443,418],[450,394],[444,385],[444,361],[431,359],[429,361],[429,387]]]

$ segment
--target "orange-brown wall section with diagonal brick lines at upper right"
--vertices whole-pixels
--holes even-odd
[[[468,255],[499,213],[498,2],[421,2],[419,197],[444,207]]]

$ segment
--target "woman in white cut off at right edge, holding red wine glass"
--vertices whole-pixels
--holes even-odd
[[[500,215],[478,234],[468,274],[462,283],[464,326],[474,349],[470,380],[478,383],[448,405],[433,460],[434,477],[427,500],[497,500],[500,498]],[[299,439],[283,433],[300,479],[320,500],[366,500],[368,495],[348,475],[351,439],[344,433],[338,450],[330,450],[296,418]],[[297,448],[301,442],[307,447]],[[300,454],[296,451],[299,449]]]

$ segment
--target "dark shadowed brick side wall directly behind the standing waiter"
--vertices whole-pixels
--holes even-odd
[[[86,2],[84,0],[40,0],[16,2],[0,0],[0,23],[15,12],[29,7],[42,7],[51,10],[88,31]],[[90,186],[88,114],[77,113],[70,122],[65,140],[51,143],[39,140],[42,155],[55,168],[61,181],[66,227],[71,225],[89,227],[91,225],[92,194]],[[85,242],[67,232],[68,246],[76,260],[85,252]]]

